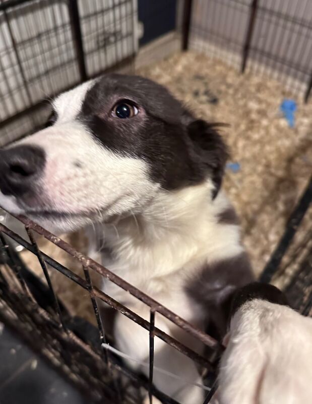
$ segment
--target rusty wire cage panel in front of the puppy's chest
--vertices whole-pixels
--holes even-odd
[[[17,233],[9,229],[3,224],[0,224],[0,246],[2,248],[3,255],[6,256],[6,263],[10,263],[12,271],[8,277],[7,269],[3,266],[0,269],[0,305],[2,306],[2,318],[5,318],[5,322],[11,324],[11,326],[19,333],[31,345],[35,345],[35,348],[44,353],[47,358],[78,387],[86,393],[92,391],[92,399],[100,401],[103,398],[108,400],[116,400],[118,394],[123,391],[122,384],[118,384],[116,388],[115,382],[119,380],[121,375],[123,379],[125,377],[130,378],[137,383],[138,386],[143,386],[148,389],[150,395],[155,395],[164,403],[174,403],[175,401],[166,397],[161,392],[157,391],[153,386],[153,369],[154,369],[154,338],[158,337],[165,343],[180,351],[183,355],[188,356],[194,362],[201,366],[202,369],[206,369],[206,373],[209,375],[210,380],[214,379],[214,371],[216,369],[217,360],[223,350],[222,345],[211,336],[205,334],[201,330],[192,326],[170,310],[166,309],[159,302],[152,299],[150,296],[141,292],[136,287],[132,286],[128,282],[119,278],[114,273],[110,272],[105,267],[81,254],[81,252],[75,250],[70,244],[54,236],[47,230],[43,229],[36,223],[32,222],[28,218],[18,217],[25,226],[29,241],[23,239]],[[70,254],[76,261],[83,267],[85,279],[75,274],[70,269],[64,267],[60,263],[53,260],[51,257],[44,254],[38,247],[34,233],[42,235],[44,238],[57,245],[59,248]],[[51,307],[53,311],[43,311],[36,304],[36,299],[33,293],[27,285],[22,273],[20,261],[16,261],[13,256],[13,249],[8,243],[8,239],[15,240],[19,244],[23,245],[26,249],[31,251],[37,256],[40,266],[42,268],[44,277],[47,281],[49,292],[52,296]],[[81,341],[75,333],[71,331],[71,327],[68,325],[68,315],[64,314],[64,310],[60,308],[60,302],[56,297],[52,282],[50,279],[49,268],[56,270],[69,278],[71,281],[78,283],[83,289],[88,291],[94,315],[97,320],[97,332],[99,344],[98,349],[91,347],[89,344]],[[138,300],[142,301],[150,310],[150,321],[146,321],[136,313],[129,310],[126,306],[120,302],[114,300],[104,292],[102,292],[97,286],[95,286],[91,280],[90,271],[99,273],[106,279],[109,279],[120,288],[127,290]],[[15,277],[15,282],[12,282],[12,275]],[[9,279],[8,279],[9,278]],[[130,372],[126,366],[122,363],[116,363],[114,357],[110,352],[106,351],[103,347],[103,343],[106,343],[105,327],[102,323],[102,318],[99,314],[98,299],[105,302],[108,306],[119,312],[121,315],[127,316],[132,321],[139,324],[141,327],[148,330],[150,338],[150,365],[149,365],[149,380],[144,381],[138,375]],[[198,343],[204,343],[209,350],[209,355],[203,357],[194,350],[186,347],[181,342],[177,341],[170,335],[161,331],[155,327],[155,315],[160,314],[175,324],[181,330],[189,333],[198,340]],[[31,338],[27,336],[26,329],[32,330]],[[39,335],[41,338],[41,344],[37,344]],[[109,371],[113,370],[114,373],[110,374]],[[124,384],[124,382],[123,382]],[[113,386],[113,387],[111,387]],[[128,391],[128,390],[127,390]],[[115,395],[114,395],[115,394]],[[205,402],[209,402],[211,394],[206,397]],[[120,397],[119,397],[120,399]],[[132,402],[131,395],[126,395],[126,401]],[[109,402],[109,401],[108,401]],[[115,401],[112,401],[115,402]]]

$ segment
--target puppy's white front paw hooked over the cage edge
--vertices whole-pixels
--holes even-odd
[[[246,298],[244,292],[234,300],[220,363],[220,404],[312,402],[312,319],[282,305],[281,292],[272,288],[267,296],[262,290]]]

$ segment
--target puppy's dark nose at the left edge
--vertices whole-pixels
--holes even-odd
[[[21,145],[0,150],[0,190],[5,195],[22,195],[34,187],[45,165],[40,147]]]

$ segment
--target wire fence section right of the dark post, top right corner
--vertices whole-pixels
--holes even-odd
[[[304,95],[312,73],[312,3],[260,0],[249,53],[249,67],[281,80]]]

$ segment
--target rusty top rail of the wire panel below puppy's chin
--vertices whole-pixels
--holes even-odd
[[[56,237],[49,231],[45,230],[43,227],[39,226],[38,224],[34,223],[30,219],[24,216],[15,216],[16,219],[20,220],[24,223],[25,226],[33,229],[38,234],[42,235],[47,240],[51,241],[53,244],[57,245],[59,248],[63,249],[64,251],[68,252],[72,257],[76,258],[79,262],[82,263],[83,266],[93,269],[94,271],[98,272],[100,275],[104,276],[106,279],[109,279],[111,282],[115,283],[119,287],[124,290],[127,290],[130,294],[141,300],[144,304],[152,308],[155,312],[162,314],[172,323],[180,327],[182,330],[188,332],[189,334],[193,335],[194,337],[198,338],[201,342],[205,345],[216,348],[222,349],[220,342],[216,339],[212,338],[210,335],[207,335],[205,332],[201,331],[199,328],[192,326],[189,322],[183,320],[181,317],[174,314],[171,310],[165,308],[163,305],[158,303],[156,300],[136,288],[135,286],[131,285],[127,281],[123,280],[119,276],[115,275],[107,268],[103,267],[102,265],[98,264],[97,262],[93,261],[91,258],[88,258],[81,252],[77,251],[74,247],[68,244],[66,241]],[[0,225],[1,227],[5,227]],[[9,230],[9,229],[8,229]],[[23,244],[22,244],[23,245]]]

